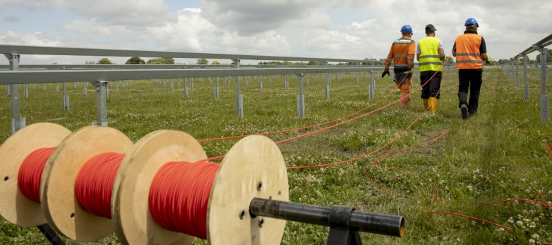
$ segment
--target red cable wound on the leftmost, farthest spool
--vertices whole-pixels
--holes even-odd
[[[32,202],[40,203],[40,179],[48,157],[54,150],[55,147],[34,150],[23,160],[19,167],[17,185],[21,193]]]

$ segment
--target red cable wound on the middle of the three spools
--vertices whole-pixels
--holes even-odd
[[[86,161],[75,179],[75,195],[90,213],[111,219],[111,194],[125,154],[101,153]]]

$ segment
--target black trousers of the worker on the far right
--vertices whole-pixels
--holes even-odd
[[[468,106],[468,113],[475,114],[479,107],[479,93],[481,90],[483,69],[460,69],[458,70],[458,107],[462,104]],[[470,100],[468,101],[468,90]]]

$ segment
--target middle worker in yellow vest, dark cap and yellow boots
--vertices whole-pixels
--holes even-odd
[[[426,26],[426,37],[418,41],[416,59],[420,68],[420,85],[424,110],[435,114],[441,90],[444,49],[441,39],[435,37],[435,26]]]

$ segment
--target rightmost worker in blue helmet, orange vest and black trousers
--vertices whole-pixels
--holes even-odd
[[[479,95],[483,82],[483,61],[491,63],[486,52],[485,39],[477,35],[479,24],[473,18],[466,19],[464,35],[456,37],[453,57],[456,57],[458,70],[458,100],[462,119],[475,115],[479,107]],[[468,90],[470,98],[468,101]]]

